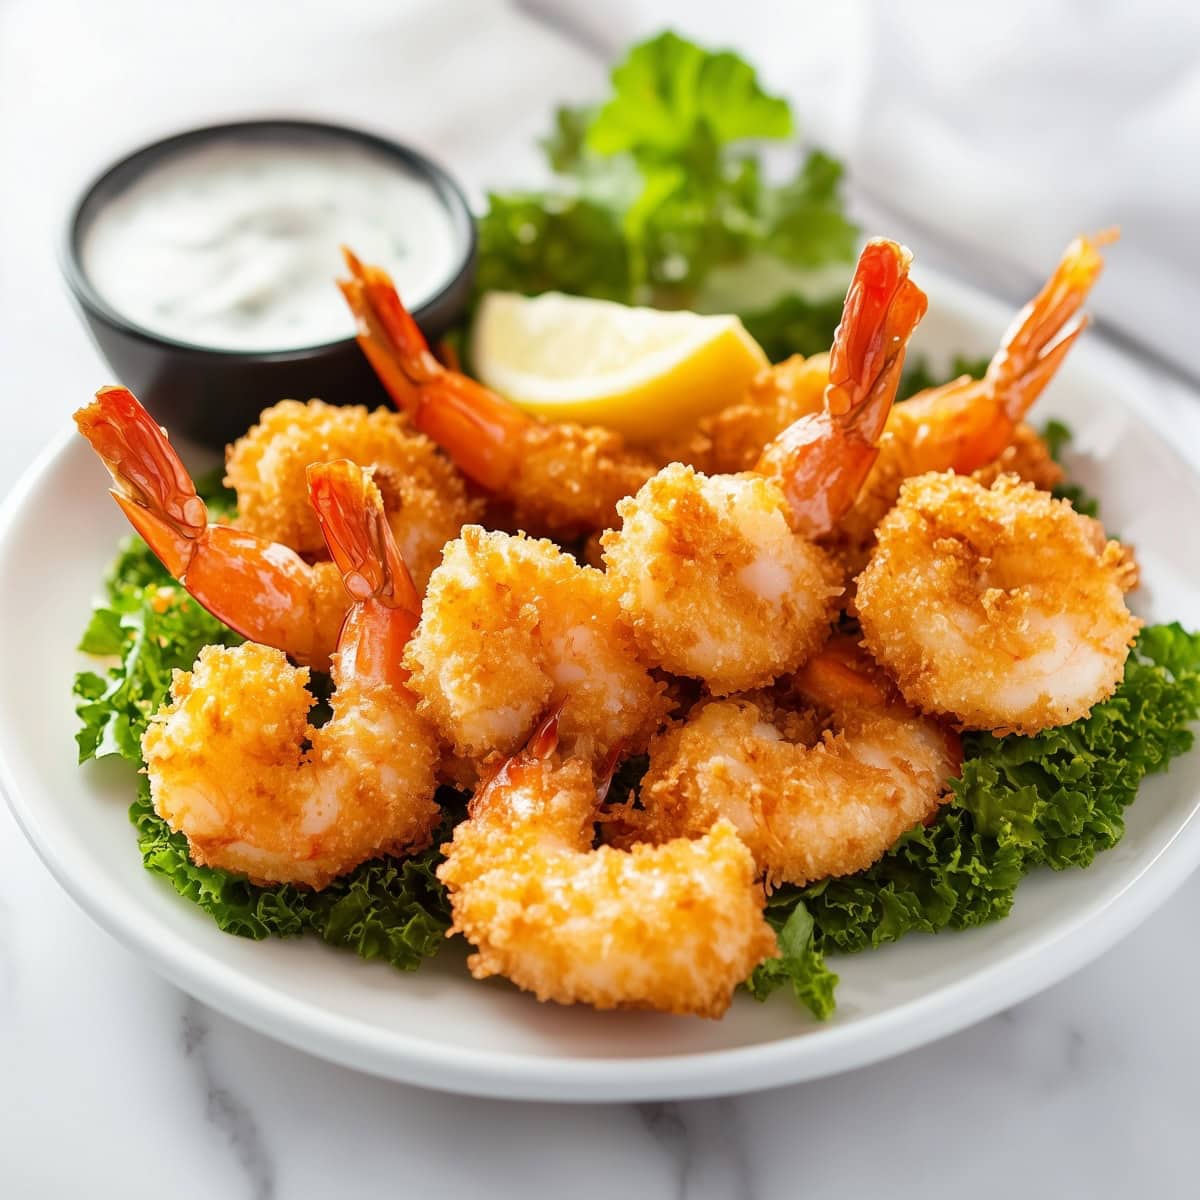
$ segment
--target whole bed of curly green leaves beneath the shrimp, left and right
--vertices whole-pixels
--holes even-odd
[[[1051,438],[1061,443],[1062,434]],[[116,662],[76,679],[80,760],[119,755],[140,767],[142,732],[172,671],[191,666],[202,646],[236,640],[170,583],[143,542],[130,539],[84,632],[89,653]],[[816,1016],[828,1016],[836,976],[826,952],[996,920],[1034,868],[1086,866],[1120,840],[1123,811],[1142,778],[1192,746],[1188,726],[1198,714],[1200,635],[1153,625],[1142,630],[1116,694],[1085,720],[1032,738],[968,734],[962,778],[937,821],[906,833],[859,875],[770,896],[767,919],[780,956],[754,972],[749,991],[762,1000],[786,984]],[[644,757],[625,763],[610,799],[628,797],[644,769]],[[430,850],[365,863],[320,893],[257,887],[193,865],[186,840],[155,814],[144,776],[130,817],[146,869],[221,929],[253,938],[311,932],[413,970],[438,952],[450,923],[436,847],[461,815],[461,798],[449,791],[439,798],[448,816]]]

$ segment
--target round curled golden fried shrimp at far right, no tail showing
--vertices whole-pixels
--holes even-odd
[[[905,698],[964,728],[1037,733],[1112,695],[1140,622],[1123,547],[1013,476],[900,491],[858,580],[871,653]]]

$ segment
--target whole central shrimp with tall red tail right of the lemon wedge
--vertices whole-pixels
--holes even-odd
[[[743,691],[794,671],[824,641],[842,571],[814,544],[875,461],[905,346],[925,311],[893,241],[863,250],[835,338],[824,410],[767,445],[754,472],[673,463],[622,500],[601,539],[643,659]]]

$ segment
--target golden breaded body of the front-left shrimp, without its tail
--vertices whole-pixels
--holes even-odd
[[[246,642],[208,646],[176,671],[142,739],[155,811],[191,859],[254,883],[323,888],[377,854],[428,845],[437,745],[410,700],[347,679],[308,725],[308,672]],[[305,742],[311,748],[305,750]]]

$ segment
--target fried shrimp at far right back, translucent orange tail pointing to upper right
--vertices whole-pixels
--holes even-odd
[[[1067,247],[1045,287],[1016,314],[982,379],[962,376],[892,409],[878,461],[829,539],[854,574],[900,485],[913,475],[980,470],[990,482],[989,464],[1018,439],[1009,466],[1038,486],[1057,482],[1045,444],[1021,419],[1087,328],[1080,310],[1104,268],[1099,247],[1115,236],[1076,238]]]

